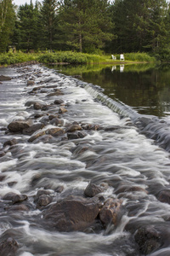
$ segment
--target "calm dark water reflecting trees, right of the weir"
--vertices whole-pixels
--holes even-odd
[[[170,114],[170,65],[59,67],[62,73],[78,74],[88,83],[99,84],[105,95],[127,104],[138,113],[158,117]],[[90,70],[91,69],[91,70]]]

